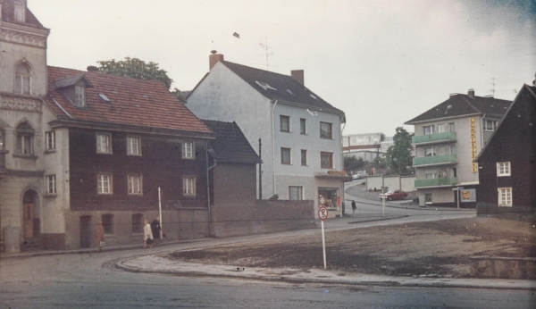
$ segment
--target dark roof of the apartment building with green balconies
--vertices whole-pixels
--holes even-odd
[[[507,108],[512,101],[496,99],[487,96],[468,96],[456,94],[448,97],[448,100],[432,107],[430,110],[418,115],[405,124],[432,121],[442,118],[453,118],[475,113],[502,116],[507,113]],[[450,107],[449,107],[450,106]]]

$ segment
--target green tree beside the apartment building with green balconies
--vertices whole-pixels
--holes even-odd
[[[385,160],[389,169],[402,175],[407,173],[407,167],[412,165],[411,136],[406,129],[398,127],[393,142],[394,144],[389,146],[385,153]]]

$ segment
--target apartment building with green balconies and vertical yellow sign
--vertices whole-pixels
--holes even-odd
[[[420,205],[475,206],[479,168],[474,160],[511,103],[469,90],[406,121],[415,126],[413,167]]]

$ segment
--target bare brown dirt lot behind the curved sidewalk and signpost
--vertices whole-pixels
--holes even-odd
[[[175,252],[172,259],[239,267],[322,268],[318,233]],[[333,271],[470,277],[470,256],[536,257],[532,223],[470,218],[326,232]]]

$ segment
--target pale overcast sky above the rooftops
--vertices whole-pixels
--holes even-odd
[[[158,63],[191,90],[212,50],[290,74],[346,113],[343,134],[395,134],[452,93],[513,100],[536,73],[532,0],[28,0],[48,65]],[[233,33],[239,34],[239,38]],[[404,126],[412,132],[413,126]]]

